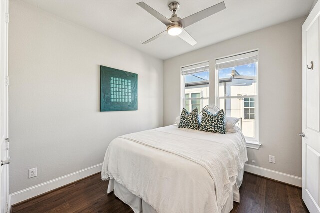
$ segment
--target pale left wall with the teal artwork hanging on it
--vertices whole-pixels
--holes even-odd
[[[100,65],[138,74],[137,111],[99,112]],[[116,136],[163,125],[162,60],[20,1],[10,1],[9,76],[10,193],[99,164]]]

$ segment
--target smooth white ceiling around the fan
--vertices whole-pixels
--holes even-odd
[[[168,59],[232,37],[307,15],[314,0],[225,0],[226,9],[186,30],[198,42],[190,46],[178,37],[165,35],[142,42],[166,29],[165,25],[136,3],[141,0],[24,0],[45,11],[102,33],[160,59]],[[174,0],[143,0],[171,17]],[[222,0],[177,0],[181,18]]]

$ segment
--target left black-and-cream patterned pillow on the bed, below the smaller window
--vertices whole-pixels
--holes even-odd
[[[198,130],[200,126],[198,115],[198,108],[195,108],[194,110],[192,110],[192,112],[188,112],[185,108],[183,108],[181,112],[179,128]]]

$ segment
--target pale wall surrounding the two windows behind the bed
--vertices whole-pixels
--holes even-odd
[[[259,49],[259,150],[248,148],[249,164],[301,177],[302,23],[306,17],[232,38],[164,61],[164,125],[180,114],[180,67],[210,62],[214,104],[216,58]],[[276,163],[268,162],[274,155]],[[255,163],[252,163],[252,159]]]

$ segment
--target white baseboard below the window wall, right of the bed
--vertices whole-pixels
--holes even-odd
[[[244,171],[250,172],[256,175],[264,176],[266,178],[281,181],[294,186],[302,187],[302,178],[294,175],[289,175],[283,172],[266,169],[263,167],[254,166],[251,164],[244,165]]]

